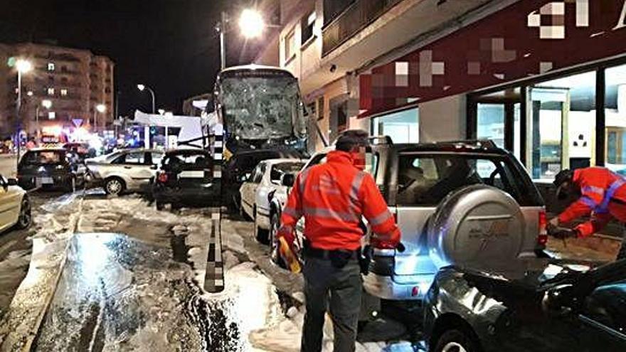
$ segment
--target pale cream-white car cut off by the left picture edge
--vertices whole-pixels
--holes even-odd
[[[15,178],[0,175],[0,233],[9,228],[28,228],[33,218],[28,195]]]

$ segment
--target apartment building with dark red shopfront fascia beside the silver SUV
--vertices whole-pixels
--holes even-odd
[[[626,173],[625,0],[292,0],[258,55],[299,78],[327,139],[489,138],[537,181]],[[315,136],[312,136],[315,139]],[[317,148],[321,142],[317,140]]]

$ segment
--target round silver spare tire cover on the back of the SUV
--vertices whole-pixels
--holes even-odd
[[[430,257],[437,267],[513,260],[524,229],[524,216],[509,194],[482,184],[467,186],[437,206],[428,226]]]

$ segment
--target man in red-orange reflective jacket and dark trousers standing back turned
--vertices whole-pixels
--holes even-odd
[[[327,307],[334,328],[334,351],[354,351],[361,308],[361,216],[375,234],[372,245],[395,248],[400,231],[376,182],[365,169],[368,133],[344,132],[327,162],[302,171],[282,210],[277,236],[293,243],[304,216],[304,316],[301,351],[322,351]]]

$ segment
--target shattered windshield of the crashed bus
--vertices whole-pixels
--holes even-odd
[[[226,78],[221,91],[224,119],[231,134],[242,139],[304,136],[295,78]]]

